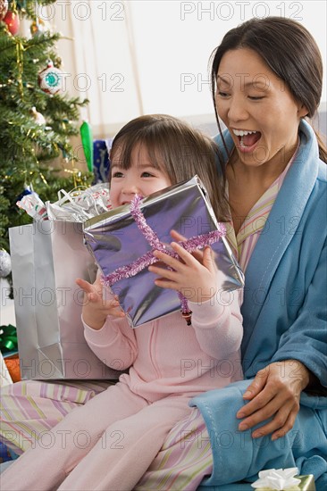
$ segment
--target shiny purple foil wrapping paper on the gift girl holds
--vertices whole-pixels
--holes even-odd
[[[205,187],[197,176],[147,196],[142,200],[140,209],[147,224],[168,248],[172,242],[172,229],[189,239],[219,227]],[[147,243],[130,214],[129,205],[120,206],[86,221],[83,230],[88,250],[104,276],[130,265],[151,251],[151,245]],[[219,288],[234,290],[244,287],[243,273],[226,239],[222,237],[211,246],[223,273]],[[180,310],[177,293],[156,287],[155,278],[156,275],[146,268],[132,278],[117,281],[111,287],[113,293],[119,296],[131,327],[138,327],[149,320]]]

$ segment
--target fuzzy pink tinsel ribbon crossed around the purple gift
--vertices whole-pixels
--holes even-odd
[[[165,254],[168,254],[176,259],[179,259],[179,255],[174,253],[172,250],[168,250],[163,242],[160,241],[159,237],[156,235],[155,231],[149,227],[147,221],[140,210],[140,202],[142,200],[142,196],[135,196],[130,203],[130,214],[134,218],[138,229],[141,233],[146,237],[147,242],[152,246],[152,250],[148,251],[146,254],[141,255],[136,261],[131,262],[128,266],[122,266],[122,268],[117,268],[112,273],[107,276],[103,276],[103,283],[111,287],[119,281],[120,279],[131,278],[132,276],[137,275],[141,270],[150,266],[150,264],[154,264],[158,262],[158,259],[154,256],[154,251],[162,251]],[[191,237],[188,240],[181,240],[179,244],[189,253],[193,253],[199,248],[204,247],[205,245],[212,245],[215,242],[218,242],[222,236],[226,235],[226,229],[222,223],[218,224],[218,229],[208,232],[206,234],[202,234],[196,237]],[[189,307],[188,301],[184,295],[179,292],[180,296],[180,305],[181,311],[183,314],[188,314]]]

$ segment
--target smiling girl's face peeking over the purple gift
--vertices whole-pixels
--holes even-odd
[[[120,152],[113,154],[110,199],[113,208],[129,204],[135,195],[149,196],[172,185],[171,179],[150,162],[145,146],[137,145],[131,152],[130,169],[120,166]]]

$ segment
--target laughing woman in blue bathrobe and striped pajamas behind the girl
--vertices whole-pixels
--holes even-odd
[[[242,358],[247,380],[195,399],[199,410],[172,430],[137,488],[195,489],[212,474],[204,487],[218,489],[255,480],[264,468],[296,464],[302,474],[313,472],[317,489],[323,489],[327,404],[308,390],[323,394],[327,380],[326,167],[318,153],[327,159],[305,120],[320,101],[321,56],[297,22],[252,20],[224,37],[214,55],[213,81],[216,111],[228,129],[218,141],[228,162],[230,240],[246,274]],[[230,367],[221,370],[228,373]],[[8,434],[12,419],[26,425],[28,415],[34,419],[28,429],[17,425],[23,436],[30,429],[51,428],[50,415],[58,420],[95,393],[80,387],[76,402],[63,396],[58,403],[54,391],[52,403],[51,385],[42,392],[37,384],[13,387],[17,395],[28,391],[29,402],[21,398],[24,417],[15,399],[4,397],[4,404],[16,410],[7,417]],[[61,394],[67,394],[64,387]],[[38,416],[33,404],[46,408],[44,413]],[[271,441],[272,436],[279,438]],[[21,438],[22,444],[30,445]]]

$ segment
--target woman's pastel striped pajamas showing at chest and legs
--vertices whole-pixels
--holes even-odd
[[[238,236],[235,236],[232,227],[228,229],[227,237],[243,270],[247,268],[293,159],[248,213]],[[51,429],[57,422],[72,409],[105,390],[108,385],[109,382],[105,381],[58,383],[29,380],[3,387],[0,401],[2,441],[17,454],[35,445],[40,437],[47,445],[46,441],[51,441]],[[205,475],[211,474],[212,462],[204,420],[200,412],[194,409],[191,418],[180,421],[172,429],[162,450],[135,490],[196,489]]]

